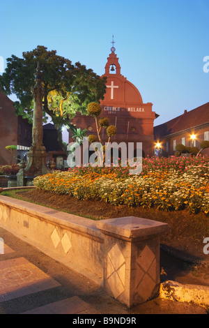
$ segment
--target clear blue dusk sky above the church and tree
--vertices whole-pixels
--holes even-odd
[[[0,0],[0,15],[4,67],[44,45],[102,75],[114,34],[121,74],[153,103],[155,126],[209,101],[209,0]]]

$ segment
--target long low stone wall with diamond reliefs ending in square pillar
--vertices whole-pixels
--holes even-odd
[[[165,223],[136,217],[93,221],[0,195],[0,226],[128,307],[159,291]]]

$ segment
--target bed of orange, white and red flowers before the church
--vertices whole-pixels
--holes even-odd
[[[36,188],[115,205],[189,209],[209,214],[209,158],[146,158],[139,175],[128,167],[76,167],[36,177]]]

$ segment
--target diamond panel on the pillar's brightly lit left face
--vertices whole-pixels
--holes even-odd
[[[125,258],[118,244],[107,254],[107,281],[114,297],[121,295],[125,288]]]

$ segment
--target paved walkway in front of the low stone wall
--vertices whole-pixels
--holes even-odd
[[[200,306],[154,299],[127,309],[84,276],[0,228],[1,314],[206,314]],[[1,249],[0,249],[1,250]]]

